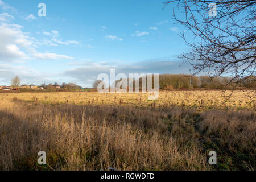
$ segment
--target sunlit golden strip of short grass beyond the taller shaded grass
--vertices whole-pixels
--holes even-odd
[[[18,98],[26,101],[66,104],[107,104],[142,107],[185,107],[198,110],[229,109],[255,110],[255,92],[234,91],[172,91],[160,92],[156,101],[148,100],[148,94],[100,94],[97,92],[58,92],[58,93],[0,93],[0,100]],[[228,100],[229,98],[229,100]],[[225,102],[226,101],[226,102]],[[225,104],[223,104],[225,102]]]

